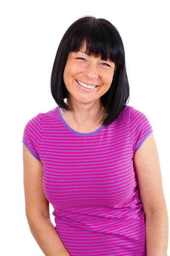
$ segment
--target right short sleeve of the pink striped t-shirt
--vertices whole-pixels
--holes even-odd
[[[141,111],[130,108],[130,138],[133,154],[140,148],[144,140],[153,132],[149,120]]]

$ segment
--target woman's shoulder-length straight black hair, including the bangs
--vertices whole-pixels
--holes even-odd
[[[86,53],[110,59],[115,63],[113,80],[109,90],[100,97],[104,110],[102,124],[110,125],[125,108],[129,98],[129,82],[125,64],[125,49],[122,38],[113,24],[103,18],[85,16],[77,19],[67,29],[59,43],[51,73],[51,94],[63,111],[71,111],[64,99],[68,90],[65,87],[63,73],[69,52],[77,52],[86,40]],[[108,116],[103,119],[103,117]]]

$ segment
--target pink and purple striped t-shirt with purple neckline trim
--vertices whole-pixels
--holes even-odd
[[[71,256],[147,255],[133,154],[152,132],[128,105],[91,133],[74,131],[59,106],[26,124],[23,143],[43,164],[55,229]]]

